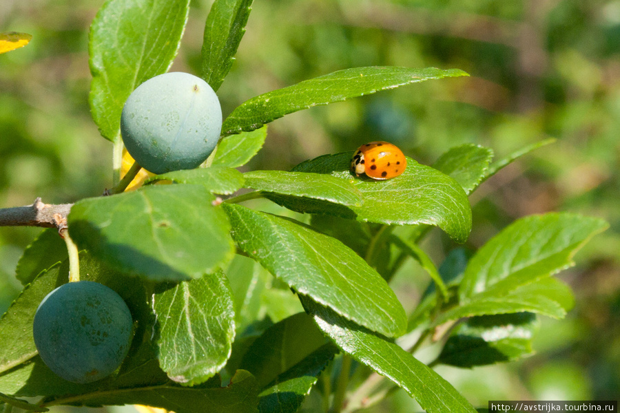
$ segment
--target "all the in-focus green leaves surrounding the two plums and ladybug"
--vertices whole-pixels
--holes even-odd
[[[250,0],[217,0],[211,9],[201,76],[215,90],[231,66],[250,6]],[[154,1],[148,12],[135,0],[109,0],[97,14],[90,103],[101,134],[115,145],[125,99],[169,68],[188,12],[188,0]],[[437,363],[476,366],[528,354],[536,315],[563,317],[572,306],[570,289],[551,276],[570,266],[572,255],[606,223],[570,214],[528,217],[471,260],[454,253],[439,269],[417,242],[431,226],[464,242],[471,230],[467,195],[542,144],[495,162],[490,149],[475,145],[451,149],[433,167],[408,158],[406,171],[384,182],[353,177],[352,152],[308,160],[293,171],[235,169],[260,150],[271,120],[463,75],[362,67],[269,92],[225,118],[209,167],[76,202],[69,228],[83,250],[83,279],[106,284],[127,301],[136,320],[132,349],[114,376],[87,385],[65,382],[43,364],[32,341],[32,318],[68,273],[61,240],[43,231],[18,266],[23,293],[0,321],[0,392],[43,399],[37,406],[11,396],[2,401],[35,410],[140,403],[178,413],[295,412],[334,355],[344,352],[428,412],[473,412],[395,339],[415,329],[425,337],[442,324],[472,317],[453,329]],[[154,185],[161,180],[174,184]],[[231,196],[240,189],[254,191]],[[240,204],[258,197],[312,218],[307,224]],[[291,305],[275,324],[260,323],[253,301],[260,299],[256,284],[262,279],[240,256],[269,271],[286,287],[281,296],[301,306]],[[420,261],[433,280],[411,315],[388,284],[405,257]],[[230,384],[222,387],[226,375]]]

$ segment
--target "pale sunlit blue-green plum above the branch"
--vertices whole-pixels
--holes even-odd
[[[218,96],[203,79],[183,72],[142,83],[121,114],[127,151],[152,173],[198,167],[216,147],[221,130]]]

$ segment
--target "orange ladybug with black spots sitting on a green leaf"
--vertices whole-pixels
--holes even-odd
[[[351,159],[351,172],[366,173],[373,179],[384,180],[399,176],[407,167],[402,151],[390,142],[369,142],[362,145]]]

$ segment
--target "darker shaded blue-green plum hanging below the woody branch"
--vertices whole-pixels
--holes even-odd
[[[70,282],[41,301],[32,333],[52,372],[73,383],[90,383],[121,366],[132,340],[132,314],[111,288]]]

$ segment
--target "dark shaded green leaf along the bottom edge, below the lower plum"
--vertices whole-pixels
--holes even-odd
[[[66,399],[59,397],[53,403],[86,406],[141,404],[176,413],[258,413],[258,385],[249,372],[239,370],[227,387],[221,387],[218,377],[214,377],[198,387],[166,383],[114,392],[95,390]]]

